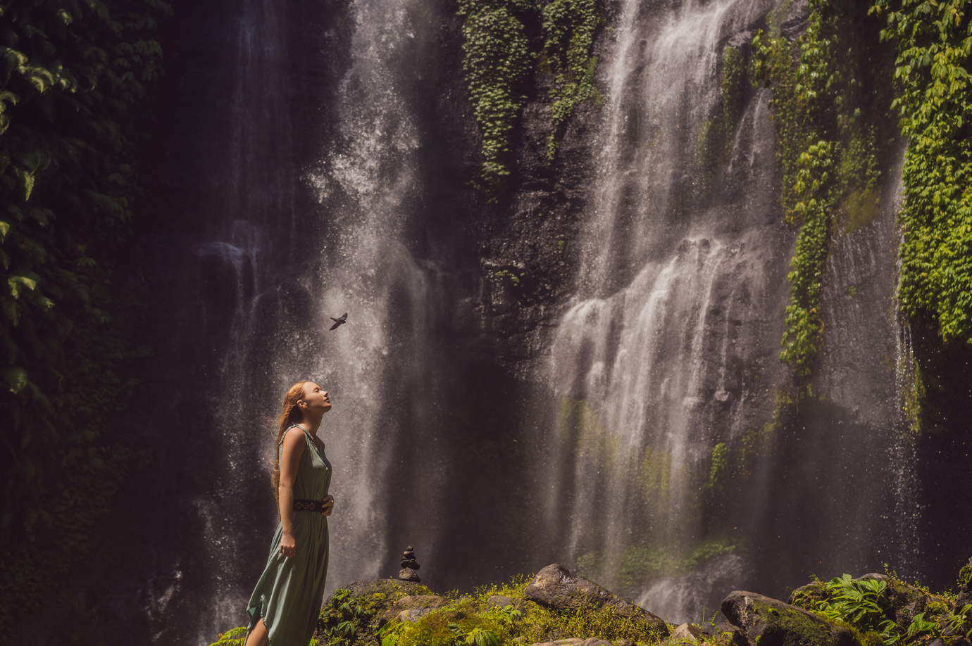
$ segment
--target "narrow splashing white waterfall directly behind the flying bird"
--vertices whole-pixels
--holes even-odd
[[[423,53],[429,21],[415,0],[361,0],[352,12],[351,63],[337,97],[338,141],[308,178],[329,231],[321,252],[326,264],[314,277],[320,282],[314,319],[324,325],[329,316],[350,313],[347,325],[322,335],[310,372],[334,392],[338,415],[326,422],[339,425],[328,449],[339,457],[333,494],[343,507],[331,522],[329,590],[387,576],[394,567],[393,555],[404,545],[387,545],[385,535],[389,515],[405,504],[388,499],[396,491],[389,479],[410,472],[393,467],[399,433],[431,425],[428,400],[416,395],[428,394],[433,368],[434,267],[420,266],[402,243],[423,198],[412,105],[417,79],[407,70]],[[425,475],[411,494],[432,512],[440,483],[434,469]],[[417,529],[410,540],[432,544],[433,536]]]

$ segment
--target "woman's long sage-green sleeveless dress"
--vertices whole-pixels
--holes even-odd
[[[330,487],[330,462],[311,434],[300,425],[291,428],[295,426],[304,431],[307,448],[297,465],[294,497],[321,500]],[[280,446],[277,457],[280,457]],[[307,646],[317,627],[328,577],[328,518],[320,512],[294,512],[297,549],[293,557],[280,554],[282,535],[283,527],[278,525],[270,543],[266,568],[247,607],[249,630],[262,618],[270,633],[268,646]]]

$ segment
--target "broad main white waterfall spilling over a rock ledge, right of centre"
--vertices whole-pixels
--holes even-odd
[[[766,286],[779,276],[767,271],[779,270],[765,262],[773,254],[767,241],[753,235],[772,208],[746,199],[703,208],[685,193],[702,190],[686,174],[718,104],[720,46],[771,6],[629,2],[621,10],[607,65],[604,171],[581,243],[595,259],[581,270],[586,300],[565,315],[552,350],[562,432],[580,456],[570,493],[562,490],[571,509],[568,552],[582,569],[597,563],[608,585],[641,583],[611,574],[632,549],[701,538],[698,466],[715,442],[744,429],[757,396],[740,366],[759,357],[735,346],[744,321],[750,333],[760,323],[773,327],[761,312],[774,309],[769,297],[777,294]],[[740,135],[733,156],[748,162],[750,183],[768,184],[757,149],[772,152],[773,135],[757,122],[767,117],[761,102],[753,105],[750,113],[761,114],[747,114],[741,132],[759,135]],[[643,599],[646,607],[654,600]]]

